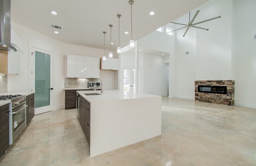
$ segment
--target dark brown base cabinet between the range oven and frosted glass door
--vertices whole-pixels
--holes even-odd
[[[26,96],[26,104],[28,105],[26,109],[26,125],[30,123],[30,121],[35,116],[35,94],[31,94]]]

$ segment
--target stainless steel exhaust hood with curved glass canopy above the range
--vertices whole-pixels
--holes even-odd
[[[11,43],[11,1],[0,0],[0,50],[22,54],[20,48]]]

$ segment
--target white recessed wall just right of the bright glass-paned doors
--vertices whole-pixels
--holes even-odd
[[[160,55],[143,55],[143,93],[167,95],[167,65],[165,57]]]

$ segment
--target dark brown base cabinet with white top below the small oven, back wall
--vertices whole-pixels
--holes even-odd
[[[92,91],[93,89],[65,90],[65,109],[76,108],[76,91]],[[101,89],[97,89],[101,90]]]

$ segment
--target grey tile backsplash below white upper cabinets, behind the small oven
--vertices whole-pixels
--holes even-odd
[[[87,83],[89,81],[96,81],[94,78],[65,78],[64,79],[64,88],[87,88]]]

